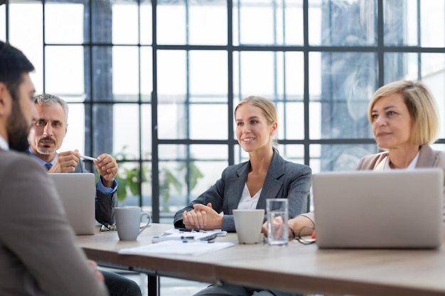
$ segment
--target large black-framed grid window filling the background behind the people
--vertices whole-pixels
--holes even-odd
[[[154,221],[247,159],[248,95],[272,99],[280,152],[313,172],[377,152],[366,109],[387,82],[423,80],[445,126],[445,0],[10,0],[0,39],[70,103],[61,150],[115,155],[119,203]]]

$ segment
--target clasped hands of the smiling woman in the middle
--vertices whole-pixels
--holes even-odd
[[[187,229],[213,230],[221,229],[223,216],[215,212],[212,204],[193,204],[190,212],[184,211],[183,224]]]

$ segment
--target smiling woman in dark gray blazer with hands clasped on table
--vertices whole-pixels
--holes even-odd
[[[267,198],[287,198],[291,217],[306,212],[311,168],[284,160],[274,149],[278,126],[274,104],[263,97],[242,99],[235,108],[235,121],[238,143],[249,153],[249,160],[226,168],[215,185],[176,213],[175,226],[235,231],[233,209],[265,209]],[[293,294],[222,283],[198,295]]]

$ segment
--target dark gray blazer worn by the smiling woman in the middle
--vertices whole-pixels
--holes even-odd
[[[188,207],[176,212],[174,225],[183,227],[182,213],[193,209],[193,204],[212,203],[216,212],[223,212],[222,229],[235,231],[232,210],[237,209],[245,187],[250,161],[225,168],[221,178],[200,194]],[[291,163],[274,152],[272,162],[267,171],[266,180],[259,195],[257,209],[266,209],[266,199],[289,199],[289,218],[306,212],[309,191],[311,189],[311,168],[307,165]],[[265,218],[264,218],[265,220]]]

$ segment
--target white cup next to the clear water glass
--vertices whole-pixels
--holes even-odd
[[[264,209],[234,209],[233,219],[239,243],[258,243],[264,221]]]

